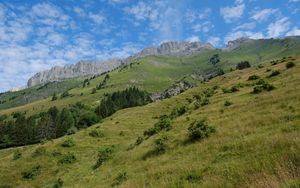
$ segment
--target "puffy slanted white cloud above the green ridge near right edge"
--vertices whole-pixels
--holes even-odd
[[[274,23],[269,24],[268,37],[279,37],[284,34],[290,28],[290,21],[287,17],[283,17]]]

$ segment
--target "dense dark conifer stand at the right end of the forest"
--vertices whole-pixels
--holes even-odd
[[[136,87],[130,87],[124,91],[108,94],[96,108],[96,113],[101,118],[105,118],[112,115],[117,110],[145,105],[150,101],[151,99],[148,93],[140,91]]]

